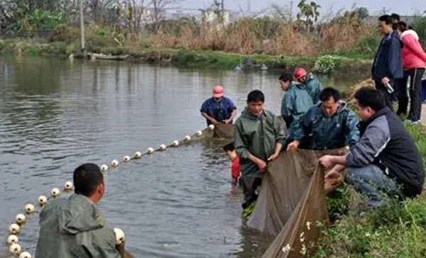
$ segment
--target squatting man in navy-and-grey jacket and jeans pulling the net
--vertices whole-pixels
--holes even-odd
[[[383,194],[398,198],[421,194],[425,173],[422,157],[398,116],[386,106],[383,94],[361,88],[355,99],[361,118],[361,139],[347,155],[326,155],[320,159],[326,169],[334,167],[326,181],[339,184],[346,169],[346,181],[366,196],[373,207],[381,203]]]

